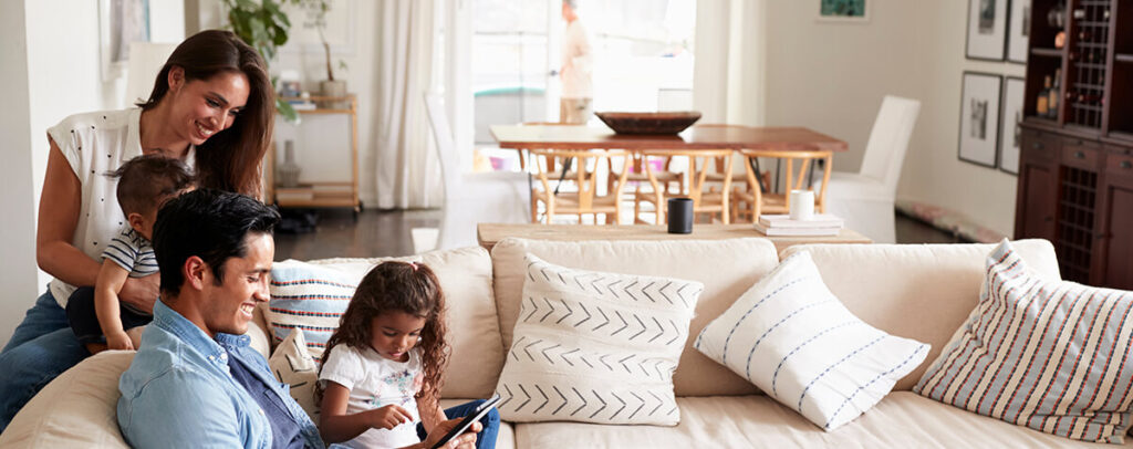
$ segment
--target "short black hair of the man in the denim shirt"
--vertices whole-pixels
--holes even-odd
[[[163,297],[181,291],[181,266],[191,256],[201,257],[216,285],[224,280],[224,262],[244,257],[248,234],[271,235],[280,214],[246,195],[202,188],[178,196],[157,211],[153,226],[153,251],[161,269]]]

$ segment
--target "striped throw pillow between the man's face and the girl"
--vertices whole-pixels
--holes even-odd
[[[316,362],[322,361],[326,340],[339,328],[359,281],[357,273],[305,262],[272,264],[272,298],[264,317],[274,342],[299,330],[307,351]]]

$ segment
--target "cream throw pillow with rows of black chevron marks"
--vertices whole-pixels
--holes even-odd
[[[496,386],[501,416],[676,425],[673,371],[704,285],[526,260],[514,342]]]

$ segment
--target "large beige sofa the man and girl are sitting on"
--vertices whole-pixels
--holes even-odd
[[[1019,240],[1015,249],[1042,276],[1058,277],[1053,246]],[[986,255],[994,245],[804,245],[777,254],[766,239],[671,242],[543,242],[509,238],[489,254],[469,247],[414,256],[432,266],[450,305],[453,356],[445,405],[488,397],[505,363],[519,314],[525,255],[550,263],[702,282],[673,389],[675,426],[574,422],[502,424],[500,448],[1038,448],[1116,447],[1041,433],[939,404],[911,388],[976,305]],[[823,281],[864,322],[931,345],[925,363],[902,378],[877,406],[826,432],[692,348],[714,317],[776,266],[807,251]],[[378,260],[313,261],[360,278]],[[257,312],[249,329],[265,355],[273,338]],[[0,435],[0,447],[125,447],[114,420],[118,375],[133,353],[107,351],[84,361],[43,389]],[[452,399],[449,399],[452,398]],[[1121,447],[1133,447],[1126,439]]]

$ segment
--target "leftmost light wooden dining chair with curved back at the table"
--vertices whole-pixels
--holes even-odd
[[[538,185],[531,188],[531,222],[539,222],[538,206],[544,206],[544,218],[546,223],[551,223],[555,215],[578,215],[579,223],[582,223],[585,215],[590,214],[594,222],[605,222],[617,224],[622,214],[622,190],[625,187],[627,170],[624,169],[629,153],[622,150],[529,150],[530,162],[537,172]],[[561,171],[555,170],[555,166],[548,167],[548,160],[572,159],[573,169],[564,178],[564,183],[570,183],[568,188],[554,185],[561,176]],[[610,164],[610,159],[620,159],[623,169],[620,172],[611,171],[610,177],[616,177],[612,189],[605,194],[598,192],[599,168]],[[598,214],[605,215],[605,220],[599,221]]]

